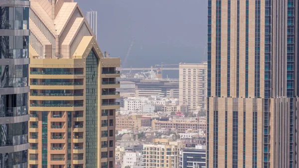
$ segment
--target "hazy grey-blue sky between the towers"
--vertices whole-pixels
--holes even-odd
[[[123,67],[197,63],[206,60],[207,0],[75,0],[82,11],[98,11],[102,51],[124,61]]]

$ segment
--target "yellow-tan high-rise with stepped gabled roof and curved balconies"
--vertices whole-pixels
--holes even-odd
[[[73,0],[31,0],[29,168],[114,168],[120,58]]]

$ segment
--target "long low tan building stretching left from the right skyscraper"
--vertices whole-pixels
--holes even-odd
[[[185,133],[187,130],[206,130],[206,122],[205,120],[152,120],[151,127],[154,130],[173,129],[177,133]]]

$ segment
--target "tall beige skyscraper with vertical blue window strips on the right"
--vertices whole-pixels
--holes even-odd
[[[207,168],[298,168],[298,0],[208,0]]]

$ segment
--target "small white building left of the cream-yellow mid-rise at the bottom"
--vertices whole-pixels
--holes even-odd
[[[124,155],[123,168],[130,166],[130,168],[140,168],[142,166],[141,152],[126,152]]]

